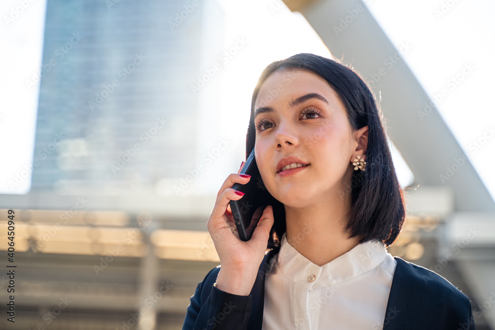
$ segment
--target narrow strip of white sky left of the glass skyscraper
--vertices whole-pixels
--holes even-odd
[[[0,5],[0,193],[23,194],[31,189],[39,81],[45,35],[46,0],[2,0]],[[8,182],[15,182],[11,187]]]

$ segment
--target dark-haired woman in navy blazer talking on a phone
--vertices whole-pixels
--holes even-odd
[[[377,103],[333,59],[270,64],[251,100],[267,206],[249,241],[235,229],[230,174],[207,222],[221,267],[191,297],[183,329],[475,329],[469,299],[386,250],[404,221]],[[268,252],[267,252],[268,251]]]

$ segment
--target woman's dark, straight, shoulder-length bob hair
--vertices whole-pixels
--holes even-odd
[[[251,99],[246,159],[254,148],[254,103],[261,85],[276,71],[293,70],[312,72],[323,78],[339,95],[347,109],[350,126],[354,130],[368,125],[366,171],[353,171],[351,182],[344,192],[351,194],[352,206],[345,217],[347,225],[343,234],[347,234],[348,238],[363,235],[360,243],[381,240],[385,247],[392,245],[404,223],[405,204],[382,124],[382,114],[368,86],[356,72],[340,61],[315,54],[299,53],[275,61],[263,70]],[[286,232],[285,208],[275,198],[269,201],[269,204],[273,206],[274,224],[267,249],[278,250],[280,239]]]

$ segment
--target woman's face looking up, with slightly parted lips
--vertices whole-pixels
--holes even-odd
[[[344,105],[323,78],[301,70],[274,72],[261,85],[254,110],[256,163],[276,199],[305,207],[350,191],[351,160],[362,153]],[[288,156],[309,165],[278,172]]]

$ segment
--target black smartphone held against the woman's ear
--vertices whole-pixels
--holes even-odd
[[[252,233],[258,225],[259,218],[267,205],[272,205],[274,197],[268,192],[261,180],[256,159],[254,158],[254,148],[240,174],[251,176],[246,185],[234,184],[232,189],[244,192],[240,200],[229,202],[232,215],[237,226],[239,238],[243,241],[251,239]]]

